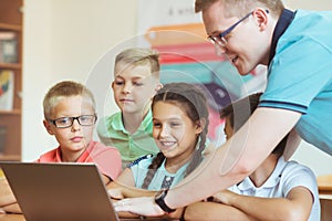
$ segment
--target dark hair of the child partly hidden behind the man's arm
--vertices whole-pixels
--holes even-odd
[[[220,110],[220,118],[228,118],[234,131],[237,131],[255,112],[261,95],[262,93],[251,94],[229,104]],[[281,156],[286,148],[287,139],[288,135],[277,145],[272,154]]]

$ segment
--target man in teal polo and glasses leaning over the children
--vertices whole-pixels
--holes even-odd
[[[195,7],[217,53],[239,74],[268,66],[266,92],[249,120],[196,176],[155,199],[120,201],[117,211],[164,214],[236,185],[289,131],[332,155],[332,12],[290,11],[281,0],[196,0]],[[293,150],[286,149],[288,157]]]

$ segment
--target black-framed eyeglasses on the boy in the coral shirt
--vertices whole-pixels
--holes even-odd
[[[77,117],[60,117],[56,119],[49,119],[49,122],[55,125],[56,128],[68,128],[74,124],[74,120],[77,120],[81,126],[91,126],[94,125],[97,116],[96,115],[81,115]]]

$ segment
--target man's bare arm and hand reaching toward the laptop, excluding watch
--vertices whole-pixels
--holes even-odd
[[[268,157],[300,117],[300,113],[292,110],[257,108],[225,145],[217,148],[212,156],[168,191],[165,203],[169,208],[183,208],[239,182]],[[115,207],[117,211],[132,211],[144,215],[164,213],[153,198],[142,201],[146,207],[137,199],[134,204],[115,203]]]

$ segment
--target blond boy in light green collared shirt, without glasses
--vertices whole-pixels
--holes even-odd
[[[115,57],[112,90],[120,112],[105,116],[97,134],[105,145],[116,147],[123,168],[137,158],[159,151],[152,137],[152,97],[162,87],[159,54],[148,48],[131,48]]]

